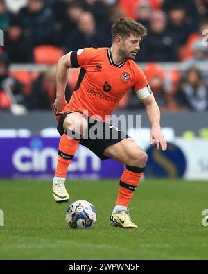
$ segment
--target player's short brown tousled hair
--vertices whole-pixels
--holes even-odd
[[[112,39],[117,36],[123,38],[129,37],[131,33],[140,36],[141,38],[147,35],[147,29],[141,23],[136,22],[132,18],[119,17],[111,28]]]

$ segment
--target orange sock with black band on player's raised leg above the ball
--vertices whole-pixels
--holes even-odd
[[[73,160],[79,141],[72,139],[65,133],[62,135],[58,146],[58,163],[55,171],[56,177],[66,178],[67,169]]]

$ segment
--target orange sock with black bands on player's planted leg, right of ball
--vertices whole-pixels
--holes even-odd
[[[119,183],[119,195],[116,200],[116,205],[128,207],[130,199],[132,198],[137,185],[139,185],[143,171],[144,168],[140,167],[125,167]]]

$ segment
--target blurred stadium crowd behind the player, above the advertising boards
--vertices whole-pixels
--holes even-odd
[[[136,62],[162,110],[208,110],[208,0],[0,0],[0,110],[50,110],[60,55],[112,44],[117,17],[148,29]],[[162,64],[178,62],[184,71]],[[10,64],[47,64],[46,71],[12,71]],[[72,73],[71,73],[72,74]],[[78,71],[75,72],[75,78]],[[72,79],[73,77],[71,77]],[[69,100],[74,79],[69,79]],[[142,108],[128,92],[119,108]]]

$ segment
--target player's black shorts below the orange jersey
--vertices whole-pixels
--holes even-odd
[[[64,134],[64,119],[69,113],[72,112],[60,114],[57,130],[61,136]],[[119,143],[123,139],[130,138],[125,132],[112,126],[110,123],[105,123],[103,121],[98,121],[89,117],[85,117],[85,119],[87,119],[88,127],[85,135],[80,139],[80,144],[89,148],[89,150],[95,153],[101,160],[109,158],[103,155],[105,148],[111,146],[112,144]],[[97,130],[94,132],[94,128],[92,127],[95,125]],[[95,133],[93,138],[92,132]]]

